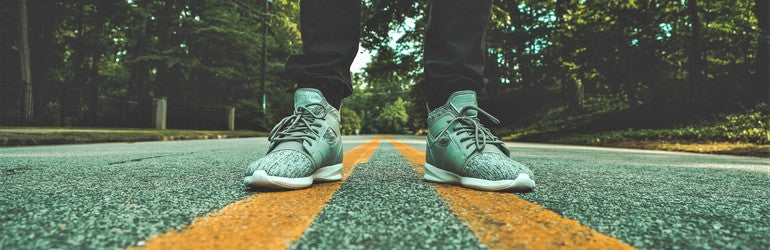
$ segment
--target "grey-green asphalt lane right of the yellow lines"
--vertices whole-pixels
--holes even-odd
[[[425,150],[423,137],[396,139]],[[537,176],[520,194],[643,249],[770,248],[770,159],[507,143]]]

